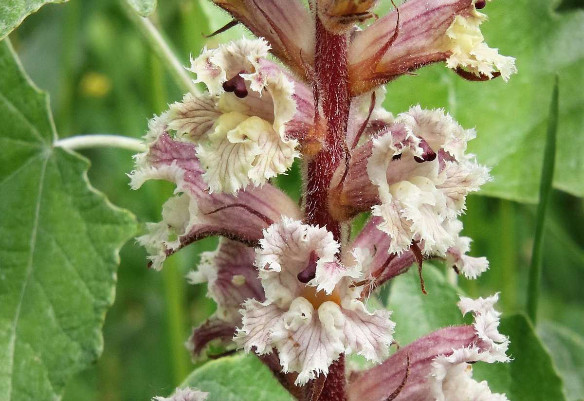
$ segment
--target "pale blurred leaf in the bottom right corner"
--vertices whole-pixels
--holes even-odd
[[[552,360],[562,376],[566,399],[584,399],[584,337],[557,322],[542,322],[537,333],[550,349]]]

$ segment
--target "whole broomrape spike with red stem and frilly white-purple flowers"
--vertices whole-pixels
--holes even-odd
[[[207,92],[152,119],[131,173],[134,189],[176,184],[162,221],[138,238],[154,269],[220,236],[187,276],[207,283],[217,303],[187,341],[193,357],[211,344],[256,354],[300,400],[506,400],[471,371],[477,361],[509,361],[498,295],[461,297],[472,325],[397,350],[399,322],[366,302],[412,264],[421,280],[429,258],[467,278],[488,269],[460,236],[467,194],[489,180],[467,152],[477,133],[443,109],[394,116],[382,107],[384,84],[427,64],[474,81],[516,72],[512,57],[484,43],[486,1],[409,0],[386,16],[374,0],[213,2],[258,39],[191,60]],[[297,159],[300,204],[272,184]],[[364,212],[369,222],[350,236]],[[349,371],[352,354],[372,367]],[[206,396],[187,388],[158,399]]]

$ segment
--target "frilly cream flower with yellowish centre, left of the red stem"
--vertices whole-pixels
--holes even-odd
[[[286,131],[297,109],[295,84],[265,58],[269,50],[265,40],[245,38],[204,48],[188,69],[209,92],[187,93],[171,106],[168,128],[197,144],[211,193],[262,186],[299,155],[298,141]]]

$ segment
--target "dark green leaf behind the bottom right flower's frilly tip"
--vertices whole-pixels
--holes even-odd
[[[552,358],[524,315],[505,316],[499,332],[511,341],[507,364],[475,364],[473,377],[512,401],[565,401],[562,380]]]

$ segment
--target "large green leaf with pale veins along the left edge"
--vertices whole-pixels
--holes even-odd
[[[0,401],[58,400],[96,360],[134,217],[53,148],[47,95],[0,42]]]

